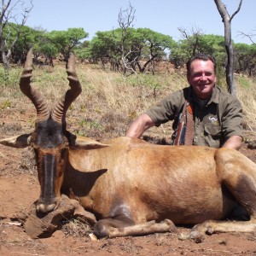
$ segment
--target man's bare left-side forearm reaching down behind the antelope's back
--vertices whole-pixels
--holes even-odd
[[[143,135],[143,132],[148,130],[152,126],[154,126],[153,120],[148,116],[147,113],[143,113],[131,123],[128,130],[126,131],[125,136],[141,137]]]

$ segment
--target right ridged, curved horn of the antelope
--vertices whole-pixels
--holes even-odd
[[[77,73],[75,72],[75,57],[73,53],[70,54],[67,63],[67,79],[69,80],[70,89],[67,90],[66,94],[56,103],[52,111],[52,119],[60,124],[66,123],[67,109],[82,91]]]

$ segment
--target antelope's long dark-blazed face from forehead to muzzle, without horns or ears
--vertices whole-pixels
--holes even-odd
[[[38,166],[41,193],[38,212],[51,212],[59,206],[61,184],[67,163],[68,142],[62,125],[53,119],[39,122],[32,134],[31,146]]]

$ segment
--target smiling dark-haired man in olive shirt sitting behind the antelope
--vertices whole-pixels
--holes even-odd
[[[189,87],[166,96],[141,114],[126,136],[141,137],[148,128],[174,120],[173,144],[241,148],[241,103],[215,84],[215,59],[204,54],[193,56],[187,62],[187,79]]]

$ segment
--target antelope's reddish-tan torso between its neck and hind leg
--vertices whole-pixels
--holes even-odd
[[[129,137],[106,143],[110,147],[84,151],[80,170],[86,172],[82,204],[102,218],[120,204],[138,223],[170,218],[196,224],[230,212],[233,201],[218,181],[216,149],[154,145]]]

